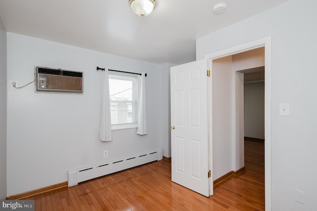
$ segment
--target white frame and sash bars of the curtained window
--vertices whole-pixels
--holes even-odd
[[[132,112],[135,114],[134,122],[132,123],[118,123],[118,124],[111,124],[111,130],[121,130],[121,129],[129,129],[129,128],[137,128],[138,127],[138,77],[135,74],[129,74],[129,73],[108,73],[109,80],[110,79],[116,79],[116,80],[126,80],[126,81],[132,81],[132,98],[134,97],[133,101],[111,101],[110,99],[110,105],[111,103],[132,103]],[[109,86],[110,90],[110,86]],[[134,110],[133,110],[134,109]],[[110,111],[111,112],[111,111]]]

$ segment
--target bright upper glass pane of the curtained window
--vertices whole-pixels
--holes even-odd
[[[110,101],[132,101],[132,81],[109,79]]]

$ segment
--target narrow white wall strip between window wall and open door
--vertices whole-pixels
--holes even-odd
[[[171,157],[170,149],[170,68],[175,64],[165,63],[161,67],[162,78],[162,149],[163,156],[166,158]]]

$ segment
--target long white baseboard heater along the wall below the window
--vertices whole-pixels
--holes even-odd
[[[68,187],[77,185],[79,182],[105,176],[107,174],[146,164],[148,162],[161,160],[162,158],[162,150],[160,149],[127,158],[109,160],[95,165],[71,169],[67,171]]]

